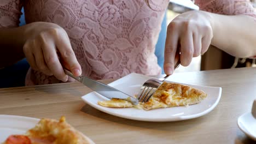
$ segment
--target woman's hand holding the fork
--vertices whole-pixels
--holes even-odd
[[[167,75],[173,73],[178,58],[183,66],[188,66],[193,57],[207,51],[213,38],[210,19],[204,11],[189,11],[178,15],[168,25],[164,62]]]

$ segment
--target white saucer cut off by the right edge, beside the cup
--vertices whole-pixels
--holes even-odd
[[[237,119],[238,127],[248,137],[256,141],[256,118],[253,117],[251,112],[247,112]]]

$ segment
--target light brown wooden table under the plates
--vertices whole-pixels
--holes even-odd
[[[256,98],[256,69],[176,73],[173,81],[223,88],[217,107],[205,116],[179,122],[139,122],[86,105],[90,92],[80,83],[0,89],[0,114],[59,119],[64,115],[96,143],[252,143],[237,127]],[[113,80],[104,80],[111,82]]]

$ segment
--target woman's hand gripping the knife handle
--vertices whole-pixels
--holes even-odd
[[[32,69],[54,75],[64,82],[68,76],[62,66],[71,70],[75,76],[81,75],[80,64],[62,27],[49,22],[33,22],[24,26],[24,29],[23,51]]]

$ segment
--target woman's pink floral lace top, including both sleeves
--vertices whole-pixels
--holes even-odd
[[[129,73],[160,74],[154,55],[168,1],[144,0],[1,0],[0,27],[18,27],[21,7],[26,22],[57,23],[69,35],[83,75],[119,78]],[[246,0],[195,0],[200,9],[256,17]],[[71,81],[71,80],[69,80]],[[30,69],[26,85],[61,82]]]

